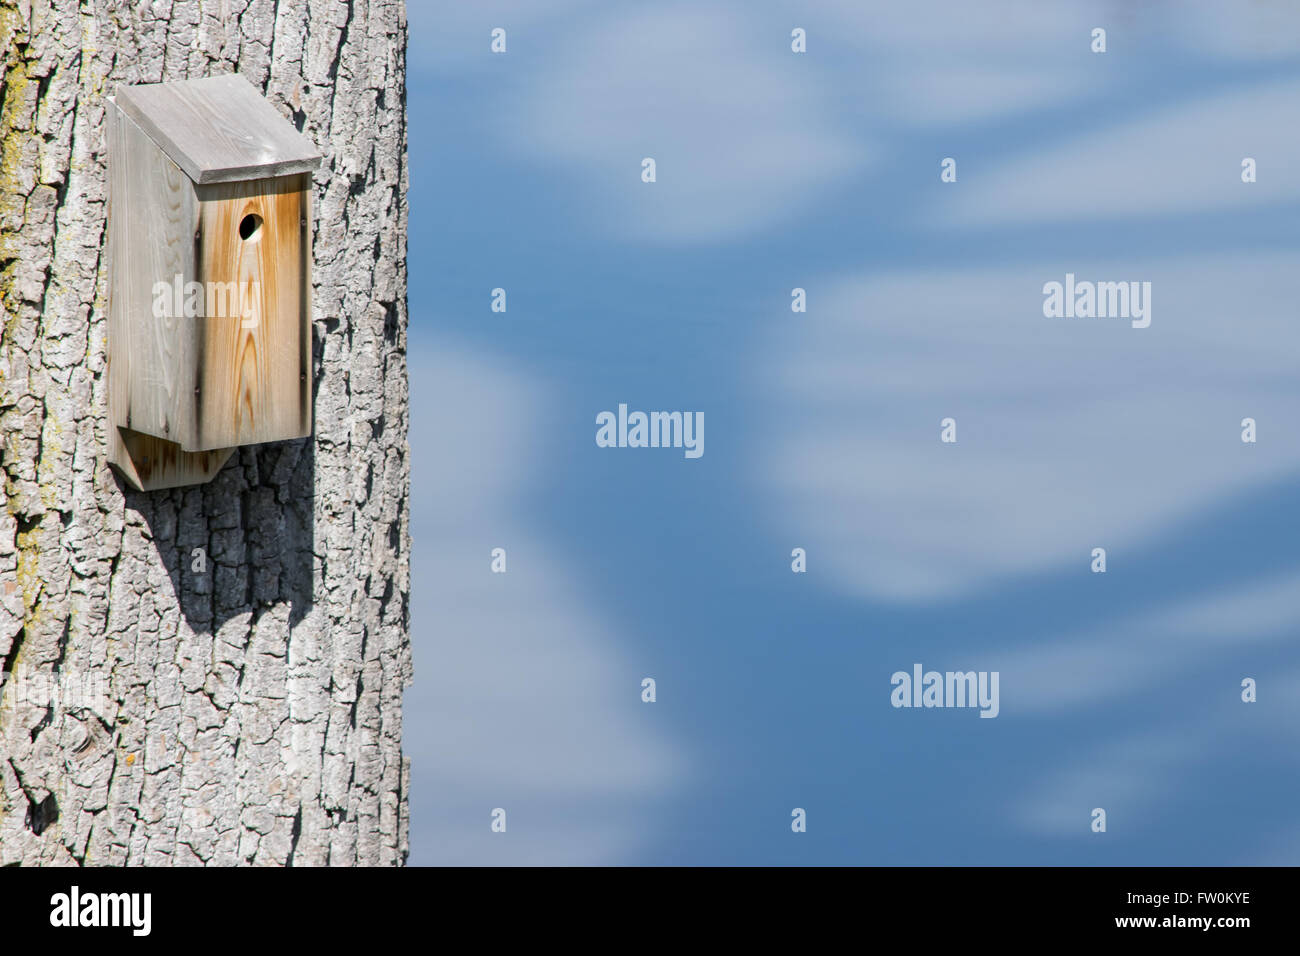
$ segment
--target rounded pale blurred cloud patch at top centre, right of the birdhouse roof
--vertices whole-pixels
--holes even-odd
[[[827,114],[827,96],[783,36],[685,4],[599,17],[566,34],[495,124],[514,148],[584,183],[599,232],[731,238],[815,202],[871,150]],[[658,181],[641,182],[653,157]]]

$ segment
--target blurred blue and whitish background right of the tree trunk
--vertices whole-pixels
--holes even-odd
[[[410,8],[412,862],[1300,861],[1294,5]]]

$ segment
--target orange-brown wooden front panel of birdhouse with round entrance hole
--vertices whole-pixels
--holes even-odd
[[[311,177],[198,187],[199,339],[187,450],[311,434]]]

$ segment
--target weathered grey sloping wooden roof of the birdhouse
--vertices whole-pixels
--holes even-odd
[[[308,173],[315,144],[238,73],[121,86],[116,103],[196,183]]]

